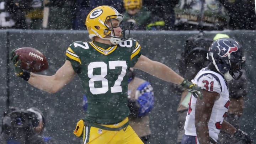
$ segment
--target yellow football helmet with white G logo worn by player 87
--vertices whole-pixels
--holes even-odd
[[[114,33],[115,27],[108,26],[106,23],[108,20],[118,20],[120,23],[123,20],[123,15],[111,6],[98,6],[93,9],[87,16],[85,25],[89,32],[89,38],[94,40],[94,37],[100,37],[102,39],[108,39],[112,44],[119,44],[121,40],[125,40],[125,31],[127,26],[118,26],[122,28],[122,37],[116,37]],[[111,23],[112,25],[112,23]],[[109,36],[109,37],[107,37]]]

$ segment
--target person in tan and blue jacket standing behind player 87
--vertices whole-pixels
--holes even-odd
[[[133,68],[128,71],[129,124],[144,144],[149,142],[149,112],[154,104],[153,87],[148,81],[135,76]],[[83,108],[87,110],[87,97],[84,95]]]

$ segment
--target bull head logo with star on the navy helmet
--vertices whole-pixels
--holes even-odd
[[[236,46],[235,44],[233,44],[234,46],[229,46],[228,44],[226,44],[226,41],[228,42],[228,40],[226,39],[220,39],[218,41],[217,48],[219,49],[218,55],[220,57],[226,57],[228,54],[231,54],[232,52],[236,52],[238,50],[238,46]]]

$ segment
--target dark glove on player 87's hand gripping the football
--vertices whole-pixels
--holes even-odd
[[[14,55],[15,50],[16,49],[12,50],[11,54],[10,54],[10,59],[11,59],[12,63],[14,64],[15,75],[28,81],[28,79],[30,78],[30,72],[21,69],[21,60],[17,61],[18,55]]]

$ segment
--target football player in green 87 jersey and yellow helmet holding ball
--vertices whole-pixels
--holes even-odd
[[[201,96],[201,87],[185,80],[166,65],[141,54],[140,44],[125,34],[123,16],[111,6],[98,6],[86,18],[91,42],[74,42],[66,50],[66,61],[52,76],[34,74],[20,68],[18,55],[11,54],[15,73],[38,89],[55,93],[75,74],[87,96],[86,117],[74,134],[83,144],[142,144],[128,123],[127,87],[129,68],[143,70]],[[129,31],[129,30],[127,30]]]

